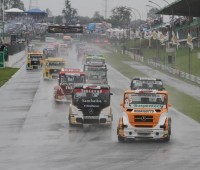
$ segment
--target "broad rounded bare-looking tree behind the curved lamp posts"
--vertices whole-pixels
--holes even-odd
[[[126,28],[130,23],[131,8],[120,6],[112,9],[111,23],[114,27]]]

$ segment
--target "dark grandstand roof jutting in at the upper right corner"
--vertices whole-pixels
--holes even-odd
[[[157,12],[161,15],[200,17],[199,0],[176,0]]]

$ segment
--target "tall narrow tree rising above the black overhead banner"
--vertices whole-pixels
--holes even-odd
[[[73,24],[73,22],[76,22],[78,12],[71,7],[70,0],[65,0],[65,8],[62,10],[62,13],[64,14],[66,24]]]

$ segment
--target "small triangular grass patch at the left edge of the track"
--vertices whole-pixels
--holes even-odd
[[[0,68],[0,87],[3,86],[18,70],[18,68]]]

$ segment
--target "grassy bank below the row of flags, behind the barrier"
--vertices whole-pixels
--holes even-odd
[[[160,60],[161,64],[167,64],[167,57],[168,55],[174,55],[166,53],[165,46],[161,46],[160,42],[156,40],[151,41],[152,48],[149,48],[148,40],[131,40],[125,43],[127,49],[129,48],[139,48],[141,47],[144,61],[147,61],[149,58],[158,56],[158,60]],[[122,46],[122,45],[121,45]],[[176,48],[176,46],[174,46]],[[122,48],[122,47],[119,47]],[[190,73],[195,76],[200,77],[200,59],[198,59],[197,55],[200,52],[200,48],[194,48],[190,51],[189,57],[189,48],[178,48],[176,50],[176,63],[175,65],[171,65],[171,67],[176,67],[179,70],[188,73],[189,72],[189,62],[190,62]],[[190,58],[190,61],[189,61]],[[170,65],[169,65],[170,66]]]

